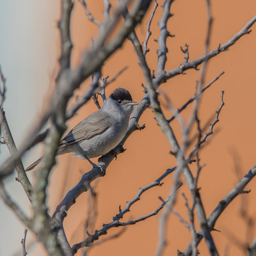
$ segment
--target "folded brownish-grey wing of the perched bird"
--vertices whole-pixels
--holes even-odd
[[[106,131],[113,122],[113,118],[106,115],[106,113],[102,113],[100,110],[84,118],[83,121],[68,132],[67,136],[60,141],[59,148],[76,143],[77,141],[88,140]]]

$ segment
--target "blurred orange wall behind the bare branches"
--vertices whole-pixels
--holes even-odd
[[[87,1],[88,8],[97,17],[102,20],[101,1]],[[148,43],[150,52],[147,54],[148,65],[151,70],[156,70],[157,65],[157,43],[154,42],[159,36],[157,20],[160,19],[163,1],[158,1],[156,15],[152,21],[152,36]],[[153,5],[151,6],[152,9]],[[214,18],[211,49],[218,44],[227,42],[255,15],[256,2],[253,0],[243,1],[212,1],[212,15]],[[172,4],[171,12],[174,14],[168,22],[168,29],[175,37],[168,38],[168,62],[166,70],[172,70],[179,67],[184,60],[184,54],[180,51],[180,46],[189,45],[189,60],[204,54],[204,40],[207,29],[207,14],[205,1],[184,1],[177,0]],[[150,12],[138,26],[136,32],[141,40],[145,38],[145,22],[149,19]],[[227,193],[235,186],[237,177],[234,172],[234,152],[236,152],[236,161],[241,166],[241,171],[248,172],[255,164],[255,42],[256,26],[252,28],[250,35],[245,35],[227,52],[221,53],[216,58],[209,61],[205,83],[209,83],[220,72],[225,71],[224,76],[216,81],[212,87],[207,90],[202,98],[200,106],[200,118],[202,124],[205,124],[209,117],[214,116],[215,111],[220,106],[221,90],[225,91],[225,106],[220,114],[220,122],[214,129],[214,136],[211,137],[207,147],[200,153],[202,164],[206,164],[200,175],[199,187],[202,200],[205,206],[207,216],[211,214],[214,207]],[[74,52],[72,54],[72,63],[77,65],[81,53],[86,47],[90,47],[90,38],[95,37],[97,27],[90,24],[85,16],[83,8],[79,3],[75,4],[72,14],[72,39],[74,42]],[[124,66],[129,69],[118,77],[117,81],[106,90],[107,95],[111,91],[122,86],[127,88],[135,101],[140,101],[143,97],[144,83],[140,67],[137,63],[136,54],[132,48],[131,42],[127,41],[122,49],[119,49],[103,68],[103,76],[109,75],[110,78]],[[179,108],[195,93],[196,80],[200,77],[200,71],[188,70],[185,76],[176,76],[161,85],[161,90],[168,93],[172,103]],[[81,95],[88,83],[81,86],[77,95]],[[161,99],[161,102],[164,102]],[[76,125],[85,116],[96,110],[96,106],[90,102],[79,111],[78,115],[68,122],[70,128]],[[171,116],[167,109],[164,109],[166,117]],[[188,120],[191,108],[188,108],[182,116]],[[127,143],[125,143],[124,154],[117,157],[116,161],[110,164],[106,176],[93,183],[96,186],[98,200],[98,218],[95,229],[100,229],[102,223],[109,223],[112,217],[118,213],[118,206],[123,208],[127,200],[131,200],[138,189],[146,186],[163,174],[166,168],[172,168],[176,164],[173,156],[168,154],[171,149],[168,141],[164,137],[161,129],[154,120],[154,115],[150,109],[147,109],[141,116],[140,124],[146,124],[143,131],[134,132]],[[180,140],[179,123],[175,120],[172,127]],[[217,132],[218,131],[218,132]],[[233,153],[232,153],[233,152]],[[94,162],[97,159],[93,159]],[[49,190],[49,203],[51,212],[54,211],[58,202],[67,191],[72,188],[81,178],[84,172],[90,170],[90,165],[81,159],[72,156],[58,157],[58,167],[52,173],[51,187]],[[195,173],[195,168],[192,167]],[[65,181],[64,181],[65,180]],[[166,198],[173,182],[170,175],[163,180],[164,185],[150,189],[141,196],[140,202],[131,207],[131,212],[125,214],[125,220],[138,218],[151,211],[154,211],[161,202],[158,197]],[[65,182],[65,186],[63,186]],[[58,184],[58,189],[56,185]],[[214,241],[220,255],[224,255],[227,246],[230,246],[229,255],[244,255],[243,250],[234,244],[234,239],[230,239],[232,232],[239,241],[245,243],[246,226],[239,216],[239,207],[241,200],[249,200],[249,214],[255,214],[254,204],[256,181],[253,180],[248,188],[252,189],[250,195],[241,195],[228,206],[228,209],[221,215],[215,228],[221,232],[212,232]],[[61,190],[63,189],[63,191]],[[184,200],[180,195],[184,192],[189,197],[189,191],[186,184],[180,188],[175,210],[179,211],[184,219],[188,220]],[[52,195],[56,195],[55,197]],[[189,202],[191,204],[191,198]],[[88,195],[84,193],[77,199],[68,216],[65,219],[65,230],[70,244],[78,243],[84,236],[84,220],[86,219],[88,207]],[[161,214],[161,213],[160,213]],[[254,216],[253,216],[254,217]],[[113,241],[100,244],[92,249],[90,255],[154,255],[157,245],[158,218],[154,216],[146,221],[132,225]],[[255,218],[253,218],[255,221]],[[196,229],[198,223],[196,222]],[[108,232],[108,236],[115,234],[120,228],[113,228]],[[93,230],[89,230],[93,232]],[[255,236],[253,229],[248,243],[252,243]],[[100,237],[102,239],[104,237]],[[184,250],[191,240],[189,230],[177,220],[176,216],[171,214],[168,220],[168,245],[164,255],[176,255],[177,249]],[[200,255],[208,255],[204,241],[198,247]],[[225,249],[226,248],[226,249]],[[81,252],[81,250],[80,250]]]

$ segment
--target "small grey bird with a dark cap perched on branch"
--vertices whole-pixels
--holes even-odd
[[[56,156],[74,153],[87,159],[93,167],[90,158],[106,155],[124,138],[133,106],[131,94],[124,88],[116,88],[105,100],[102,108],[84,118],[60,141]],[[33,170],[42,157],[26,168],[25,172]]]

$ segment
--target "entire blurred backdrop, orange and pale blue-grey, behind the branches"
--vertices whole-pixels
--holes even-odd
[[[102,1],[86,1],[88,8],[95,18],[103,20]],[[116,1],[111,1],[115,5]],[[161,17],[163,1],[152,20],[152,36],[148,42],[150,52],[147,54],[148,65],[151,70],[157,67],[157,39],[159,29],[157,21]],[[174,14],[168,22],[168,30],[175,37],[168,38],[168,61],[166,70],[179,67],[184,61],[184,54],[180,46],[189,45],[189,60],[204,54],[204,42],[207,29],[207,12],[205,1],[177,0],[172,4]],[[153,4],[150,8],[152,10]],[[240,31],[255,15],[256,2],[240,1],[212,1],[212,15],[214,18],[210,49],[227,42]],[[143,42],[146,36],[146,22],[136,28],[136,32]],[[0,65],[6,77],[7,93],[4,102],[4,111],[17,147],[27,135],[29,127],[37,116],[42,113],[44,102],[49,97],[52,86],[52,77],[58,70],[60,55],[60,38],[57,22],[60,19],[60,1],[17,1],[2,0],[0,3]],[[97,26],[89,22],[83,7],[75,1],[72,13],[72,66],[76,67],[81,60],[84,49],[90,47],[91,38],[96,38]],[[202,164],[206,164],[200,174],[199,187],[207,216],[227,193],[234,188],[238,179],[235,169],[239,168],[241,177],[255,164],[255,42],[256,26],[252,27],[250,35],[243,36],[230,47],[209,61],[205,83],[209,83],[222,71],[225,74],[207,90],[200,105],[200,119],[202,124],[209,118],[214,120],[215,111],[220,107],[221,90],[225,91],[223,107],[220,113],[220,122],[216,125],[214,135],[207,143],[207,147],[200,153]],[[103,76],[113,77],[122,67],[129,68],[118,77],[115,83],[106,89],[107,96],[116,88],[124,87],[131,92],[132,99],[140,101],[143,97],[144,83],[142,72],[138,67],[136,54],[131,42],[126,41],[121,49],[106,61]],[[199,67],[200,68],[200,67]],[[161,90],[167,93],[173,105],[179,108],[195,93],[196,80],[200,71],[188,70],[186,75],[176,76],[161,85]],[[88,83],[84,83],[75,95],[81,95]],[[164,103],[164,99],[160,97]],[[74,100],[70,104],[74,103]],[[97,107],[90,102],[79,110],[79,113],[68,121],[72,128],[85,116],[95,111]],[[164,109],[166,117],[172,116]],[[191,107],[186,109],[182,116],[188,120]],[[143,131],[134,132],[125,143],[127,150],[120,154],[116,161],[110,164],[106,176],[93,183],[97,192],[97,221],[92,233],[100,229],[102,223],[109,223],[118,213],[118,207],[124,208],[126,201],[131,200],[138,189],[146,186],[161,176],[167,168],[176,165],[175,157],[169,154],[171,150],[168,141],[157,126],[154,115],[147,109],[141,116],[140,124],[146,124]],[[172,127],[180,139],[179,123],[175,120]],[[44,148],[33,148],[24,156],[24,166],[35,161]],[[8,150],[1,145],[1,159],[8,157]],[[84,172],[90,170],[90,164],[83,159],[65,155],[58,157],[58,165],[54,167],[49,186],[49,211],[52,214],[67,191],[76,185]],[[94,162],[97,159],[93,159]],[[191,167],[195,170],[194,166]],[[195,173],[195,172],[194,172]],[[29,173],[33,182],[33,172]],[[150,189],[141,196],[140,202],[133,205],[131,212],[126,214],[125,220],[133,220],[154,211],[160,204],[159,196],[166,198],[172,186],[173,177],[170,175],[163,180],[164,185]],[[256,181],[252,180],[247,189],[252,189],[249,195],[240,195],[223,212],[215,228],[221,232],[212,232],[220,255],[246,255],[244,246],[251,244],[255,232],[254,198],[256,196]],[[29,202],[22,191],[20,184],[15,181],[15,175],[6,180],[6,188],[15,201],[28,214]],[[180,195],[184,192],[189,197],[186,184],[180,188],[175,210],[188,220],[184,200]],[[189,197],[189,203],[191,203]],[[241,217],[241,205],[248,216],[252,216],[250,225],[246,218]],[[24,236],[24,226],[16,220],[13,213],[0,201],[0,255],[15,255],[21,249],[20,241]],[[77,199],[77,203],[68,211],[65,218],[65,230],[68,241],[73,245],[84,237],[84,221],[88,211],[88,193]],[[159,213],[161,214],[161,212]],[[157,245],[159,216],[128,227],[122,236],[115,240],[95,246],[90,255],[154,255]],[[198,229],[198,223],[196,223]],[[109,230],[108,236],[118,232]],[[106,236],[107,237],[107,236]],[[100,239],[105,237],[100,237]],[[177,249],[183,251],[191,240],[189,230],[184,227],[176,216],[171,214],[168,220],[168,244],[164,255],[176,255]],[[100,240],[99,240],[100,241]],[[32,245],[31,245],[32,244]],[[31,246],[29,246],[31,245]],[[44,249],[35,241],[31,232],[27,235],[28,255],[45,255]],[[208,255],[204,241],[198,249],[202,255]],[[80,250],[77,255],[82,253]],[[227,252],[229,254],[227,254]],[[14,253],[14,254],[13,254]],[[226,253],[226,254],[225,254]],[[20,255],[16,254],[16,255]]]

